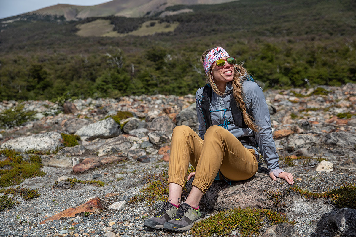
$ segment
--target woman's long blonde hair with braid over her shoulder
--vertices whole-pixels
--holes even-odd
[[[216,47],[214,47],[216,48]],[[205,56],[210,52],[210,50],[214,49],[210,48],[204,51],[204,53],[201,55],[200,61],[203,63]],[[248,128],[251,128],[253,131],[258,132],[258,127],[255,125],[253,122],[253,118],[250,114],[247,113],[246,111],[246,103],[244,101],[244,94],[242,92],[242,83],[241,81],[243,78],[248,75],[247,70],[239,64],[234,64],[234,69],[235,69],[235,74],[234,74],[234,79],[232,80],[232,90],[233,90],[233,96],[236,100],[237,106],[239,106],[242,116],[244,117],[245,123],[248,126]],[[218,87],[216,87],[214,78],[213,78],[213,73],[211,72],[211,68],[209,69],[209,74],[205,75],[206,77],[206,83],[209,83],[211,88],[214,90],[214,92],[220,96],[224,95],[224,92],[219,91]]]

